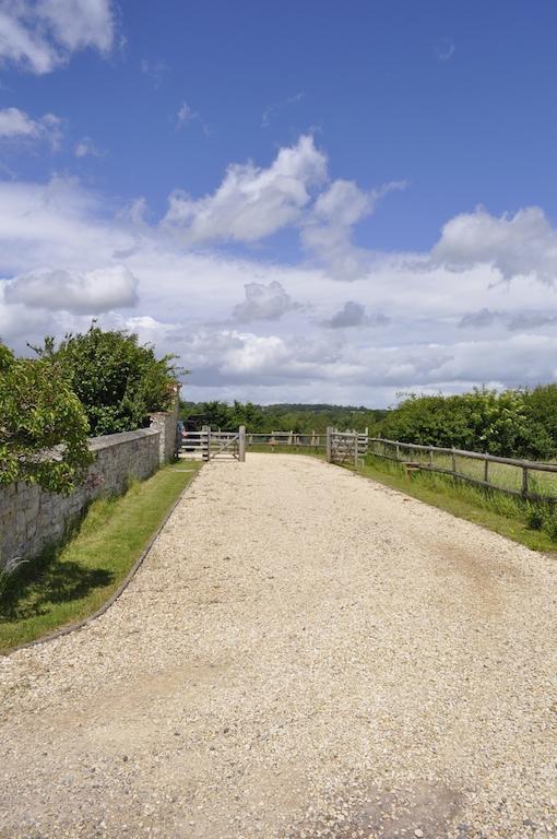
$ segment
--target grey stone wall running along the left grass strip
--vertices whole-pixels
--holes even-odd
[[[131,478],[144,480],[162,463],[171,460],[164,457],[164,452],[161,457],[161,437],[156,428],[141,428],[91,438],[95,461],[87,469],[83,484],[68,496],[47,493],[23,482],[0,487],[0,566],[14,556],[33,558],[46,545],[59,542],[68,525],[93,498],[120,494]]]

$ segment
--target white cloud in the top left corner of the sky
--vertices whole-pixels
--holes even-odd
[[[0,3],[0,59],[34,73],[48,73],[72,52],[114,44],[111,0],[3,0]]]

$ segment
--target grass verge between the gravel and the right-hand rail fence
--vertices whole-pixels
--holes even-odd
[[[425,471],[414,472],[411,477],[406,477],[403,468],[398,463],[371,456],[367,458],[365,465],[358,469],[358,474],[393,489],[400,489],[460,519],[481,524],[533,551],[557,551],[557,539],[552,533],[555,530],[555,520],[547,519],[545,511],[540,508],[502,493],[485,492],[471,484]],[[529,522],[534,521],[536,529],[529,527]],[[538,527],[547,527],[549,532],[540,530]]]

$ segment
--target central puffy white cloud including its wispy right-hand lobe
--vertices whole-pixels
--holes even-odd
[[[178,115],[186,125],[197,115],[186,104]],[[353,228],[375,212],[378,202],[405,181],[363,190],[354,181],[329,181],[327,157],[312,137],[281,149],[265,169],[252,163],[228,167],[210,196],[170,196],[164,226],[189,245],[211,241],[254,243],[286,226],[299,229],[300,240],[316,264],[336,280],[363,276],[372,255],[353,243]]]

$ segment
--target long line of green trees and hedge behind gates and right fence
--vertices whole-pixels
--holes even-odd
[[[328,426],[424,446],[487,451],[534,460],[557,457],[557,385],[458,395],[405,394],[390,410],[330,404],[257,405],[223,401],[181,402],[180,416],[195,427],[253,434],[324,434]]]

